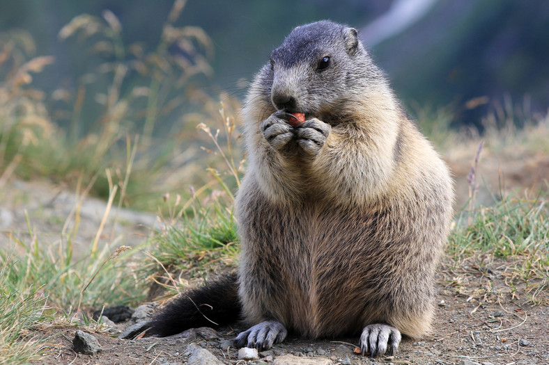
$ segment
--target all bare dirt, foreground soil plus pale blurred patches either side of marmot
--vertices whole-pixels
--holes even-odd
[[[468,198],[470,185],[467,175],[475,152],[456,154],[448,160],[456,179],[458,208]],[[486,202],[492,195],[499,194],[502,178],[504,190],[536,190],[546,186],[549,156],[518,154],[516,158],[512,155],[496,157],[486,152],[477,168],[477,182],[481,185],[477,201]],[[8,181],[1,191],[0,248],[6,248],[10,235],[26,234],[26,216],[41,241],[55,243],[59,240],[59,232],[75,206],[75,198],[71,197],[74,193],[63,186],[22,181]],[[85,200],[78,233],[82,245],[91,242],[98,231],[104,204]],[[118,224],[104,229],[100,239],[103,242],[116,239],[121,244],[137,243],[146,238],[148,229],[155,224],[154,215],[124,213]],[[477,266],[479,262],[483,262],[482,268]],[[329,359],[332,364],[341,365],[549,364],[549,307],[530,305],[528,295],[533,291],[529,288],[518,287],[511,291],[508,282],[511,268],[512,262],[490,257],[471,258],[453,268],[447,259],[438,274],[439,305],[432,335],[422,341],[403,339],[396,356],[389,359],[370,359],[353,353],[357,337],[310,341],[289,336],[271,352],[262,352],[264,357],[261,359],[246,362],[238,360],[237,350],[226,347],[226,340],[238,333],[238,327],[226,327],[217,332],[199,331],[199,334],[187,338],[127,341],[116,336],[117,331],[128,325],[125,323],[116,325],[111,334],[93,333],[103,349],[97,355],[82,355],[73,350],[75,327],[49,327],[29,335],[47,336],[52,350],[36,364],[186,364],[190,357],[187,347],[190,343],[209,350],[224,364],[271,364],[273,361],[276,364],[282,354],[296,355],[296,359]],[[537,295],[537,299],[543,296],[547,299],[548,289]]]

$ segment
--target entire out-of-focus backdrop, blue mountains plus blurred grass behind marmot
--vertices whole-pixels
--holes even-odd
[[[124,206],[155,210],[167,191],[211,192],[210,172],[223,180],[229,165],[234,191],[249,81],[295,26],[318,19],[359,30],[452,168],[458,206],[479,185],[492,186],[491,199],[504,173],[527,188],[549,177],[546,0],[19,0],[0,9],[0,186],[46,177],[107,198],[118,184]],[[489,177],[474,182],[481,151]]]

